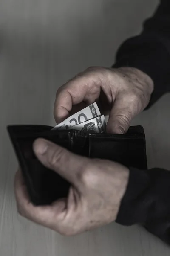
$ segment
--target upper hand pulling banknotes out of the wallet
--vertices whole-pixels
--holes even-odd
[[[152,92],[152,79],[140,70],[90,67],[58,89],[54,118],[62,122],[99,101],[103,113],[110,113],[107,132],[125,133],[132,119],[147,107]]]

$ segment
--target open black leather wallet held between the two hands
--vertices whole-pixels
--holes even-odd
[[[113,160],[127,167],[147,169],[145,134],[131,126],[127,134],[85,134],[75,130],[52,130],[45,125],[9,125],[8,133],[17,154],[28,194],[34,205],[51,204],[66,197],[70,183],[43,166],[32,144],[45,138],[68,150],[91,158]]]

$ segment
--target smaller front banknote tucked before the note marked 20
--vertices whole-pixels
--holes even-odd
[[[106,128],[105,116],[97,116],[94,119],[83,122],[72,127],[73,130],[84,131],[85,133],[104,133]]]

